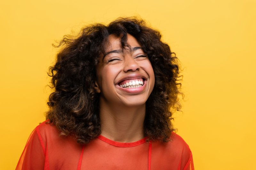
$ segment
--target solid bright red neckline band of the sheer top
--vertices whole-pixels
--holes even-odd
[[[118,146],[118,147],[133,147],[133,146],[138,146],[138,145],[141,145],[141,144],[145,143],[148,137],[145,137],[145,138],[142,138],[142,139],[140,139],[140,140],[138,140],[138,141],[136,141],[136,142],[130,142],[130,143],[116,142],[116,141],[110,140],[110,139],[108,139],[108,138],[106,138],[106,137],[104,137],[104,136],[102,136],[102,135],[98,136],[98,138],[99,138],[100,140],[102,140],[103,142],[106,142],[106,143],[108,143],[108,144],[110,144],[110,145],[113,145],[113,146]]]

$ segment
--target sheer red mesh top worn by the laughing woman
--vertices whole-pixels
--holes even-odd
[[[87,145],[60,137],[52,124],[41,123],[32,131],[16,169],[140,169],[194,170],[192,153],[174,132],[171,141],[121,143],[99,136]]]

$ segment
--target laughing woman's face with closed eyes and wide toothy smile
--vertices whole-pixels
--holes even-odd
[[[108,37],[106,55],[102,54],[96,67],[95,89],[100,93],[101,102],[143,105],[154,88],[155,75],[147,54],[130,34],[127,43],[132,50],[122,49],[119,37]]]

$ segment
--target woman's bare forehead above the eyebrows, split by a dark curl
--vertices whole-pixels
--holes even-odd
[[[111,34],[108,36],[108,42],[105,46],[104,51],[107,53],[112,50],[118,50],[121,49],[121,38],[117,37],[114,34]],[[135,39],[131,34],[127,34],[127,44],[129,44],[131,47],[141,47],[140,43]]]

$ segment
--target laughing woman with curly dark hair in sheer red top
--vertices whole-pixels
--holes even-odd
[[[180,109],[179,65],[160,32],[118,18],[58,47],[47,120],[16,169],[194,169],[170,121]]]

